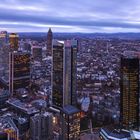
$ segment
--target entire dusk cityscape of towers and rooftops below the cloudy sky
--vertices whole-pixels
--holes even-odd
[[[0,32],[0,139],[140,139],[137,37],[23,34]]]

